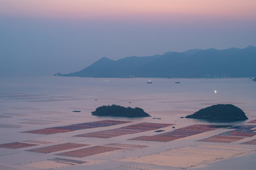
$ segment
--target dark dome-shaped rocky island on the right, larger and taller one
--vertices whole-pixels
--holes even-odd
[[[188,115],[186,118],[221,121],[237,121],[248,119],[243,110],[230,104],[212,105],[210,107],[203,108],[192,115]]]

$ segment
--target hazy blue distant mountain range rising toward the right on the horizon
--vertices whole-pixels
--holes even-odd
[[[254,77],[256,75],[256,47],[226,50],[187,50],[166,52],[163,55],[125,57],[110,60],[102,57],[81,71],[66,77]]]

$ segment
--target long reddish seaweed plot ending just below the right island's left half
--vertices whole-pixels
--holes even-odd
[[[180,128],[171,132],[162,133],[154,136],[139,136],[128,140],[142,140],[142,141],[155,141],[155,142],[169,142],[179,138],[185,138],[191,135],[214,130],[217,125],[190,125]]]

